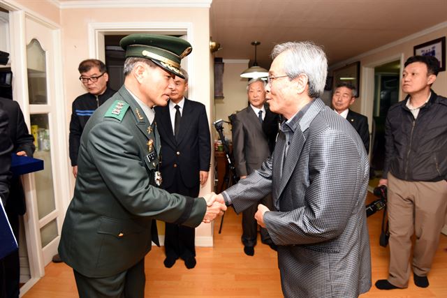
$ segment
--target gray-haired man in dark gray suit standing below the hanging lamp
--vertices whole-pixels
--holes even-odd
[[[251,79],[247,85],[247,95],[249,106],[237,112],[232,117],[232,140],[233,156],[235,158],[236,174],[240,179],[258,170],[263,161],[270,156],[269,136],[265,133],[263,127],[265,123],[272,124],[273,129],[277,126],[274,114],[265,105],[265,82],[261,79]],[[276,135],[269,131],[270,135]],[[274,144],[272,145],[274,146]],[[272,196],[269,194],[263,198],[263,204],[272,209]],[[254,214],[258,210],[256,204],[242,212],[242,244],[244,244],[244,253],[254,255],[254,246],[258,237],[258,223]],[[261,241],[273,246],[267,230],[261,228]]]

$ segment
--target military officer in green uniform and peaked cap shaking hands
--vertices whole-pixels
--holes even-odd
[[[126,36],[120,44],[126,50],[124,85],[82,133],[59,244],[80,297],[144,297],[144,258],[152,241],[158,244],[154,220],[196,227],[226,209],[157,187],[160,137],[152,107],[167,104],[191,45],[149,34]]]

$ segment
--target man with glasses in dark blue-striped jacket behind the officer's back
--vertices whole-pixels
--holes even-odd
[[[89,120],[91,114],[102,105],[105,100],[115,94],[115,90],[108,88],[109,75],[107,68],[102,61],[97,59],[87,59],[82,61],[78,67],[79,80],[87,89],[86,94],[78,96],[73,101],[71,120],[69,149],[73,175],[78,175],[78,152],[82,131]]]

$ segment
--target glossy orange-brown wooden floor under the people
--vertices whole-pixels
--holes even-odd
[[[367,202],[374,200],[372,195]],[[381,211],[368,218],[372,249],[372,282],[388,275],[388,248],[379,246]],[[173,268],[163,266],[163,248],[153,248],[145,259],[147,298],[282,297],[276,253],[258,244],[255,255],[244,254],[240,241],[241,216],[228,209],[223,231],[214,223],[214,248],[197,248],[197,266],[186,269],[178,260]],[[259,242],[259,241],[258,241]],[[447,297],[447,237],[441,242],[428,276],[430,287],[418,288],[411,277],[405,290],[381,291],[374,285],[361,297]],[[65,264],[50,263],[45,276],[25,298],[78,297],[73,271]]]

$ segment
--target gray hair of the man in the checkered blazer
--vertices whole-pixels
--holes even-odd
[[[328,75],[328,59],[323,49],[311,41],[281,43],[274,46],[272,59],[282,52],[286,53],[284,72],[289,79],[304,73],[309,79],[309,96],[321,96]]]

